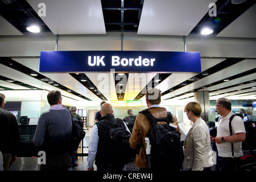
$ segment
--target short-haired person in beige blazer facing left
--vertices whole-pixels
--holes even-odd
[[[192,171],[210,171],[214,157],[210,146],[209,129],[201,118],[201,106],[197,102],[189,102],[184,111],[193,122],[184,140],[185,168]]]

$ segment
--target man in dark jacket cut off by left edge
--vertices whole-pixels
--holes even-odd
[[[19,147],[19,127],[16,117],[5,107],[5,94],[0,93],[0,151],[3,154],[3,169],[7,171],[15,162]]]

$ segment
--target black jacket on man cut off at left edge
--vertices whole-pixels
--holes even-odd
[[[0,151],[3,154],[18,153],[20,132],[15,116],[0,108]]]

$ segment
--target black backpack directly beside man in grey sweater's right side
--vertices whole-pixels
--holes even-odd
[[[72,118],[72,132],[71,132],[71,143],[69,147],[69,155],[71,156],[72,167],[74,169],[75,167],[74,157],[77,156],[75,151],[79,147],[81,140],[84,139],[85,131],[84,129],[82,129],[81,126],[77,125],[77,122],[73,120],[72,113],[71,113],[71,118]]]

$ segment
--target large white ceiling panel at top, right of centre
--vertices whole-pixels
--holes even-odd
[[[145,0],[138,34],[187,36],[216,0]]]

